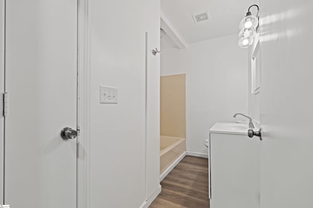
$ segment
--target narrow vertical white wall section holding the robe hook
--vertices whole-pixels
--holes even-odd
[[[149,200],[159,188],[160,168],[160,55],[152,50],[160,48],[160,0],[145,0],[142,8],[147,31],[146,65],[146,194]],[[149,17],[149,18],[148,18]],[[158,189],[160,191],[160,189]],[[154,195],[155,197],[155,195]],[[151,197],[153,198],[153,197]],[[151,201],[151,198],[149,201]]]

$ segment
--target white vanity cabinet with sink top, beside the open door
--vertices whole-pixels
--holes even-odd
[[[260,140],[248,124],[216,123],[209,139],[210,208],[260,207]]]

